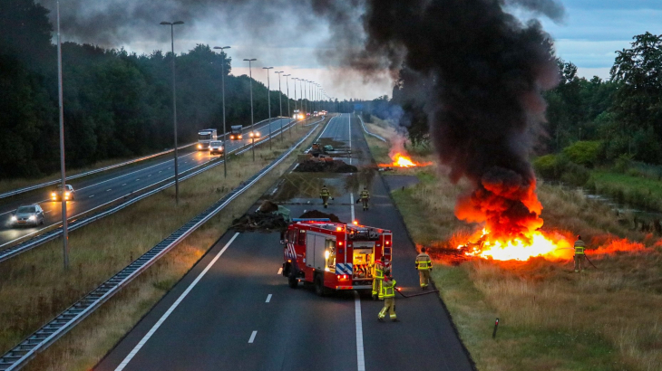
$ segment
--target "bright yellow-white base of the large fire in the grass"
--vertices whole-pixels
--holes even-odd
[[[496,261],[528,261],[533,257],[543,257],[549,260],[570,259],[574,249],[570,242],[558,233],[545,234],[540,231],[526,233],[528,235],[510,240],[491,239],[485,229],[477,243],[458,246],[465,248],[467,256],[475,256]]]

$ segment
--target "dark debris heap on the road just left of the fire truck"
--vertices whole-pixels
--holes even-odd
[[[287,207],[266,200],[255,213],[244,214],[233,220],[232,228],[237,232],[282,232],[287,229],[289,222],[289,209]]]

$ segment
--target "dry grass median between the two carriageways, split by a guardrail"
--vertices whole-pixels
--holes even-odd
[[[222,166],[217,166],[181,183],[179,207],[174,206],[174,190],[169,188],[75,231],[70,236],[72,268],[69,271],[62,269],[61,242],[44,244],[5,262],[0,271],[0,351],[13,347],[84,293],[161,242],[191,217],[268,165],[307,131],[295,131],[292,138],[286,133],[283,142],[274,139],[273,150],[267,146],[257,147],[255,162],[250,151],[230,157],[228,178],[223,177]],[[311,137],[308,142],[312,140]],[[291,156],[296,157],[297,151]],[[223,213],[35,358],[26,369],[85,370],[94,366],[200,260],[225,233],[232,219],[243,214],[290,163],[286,160],[277,166]]]

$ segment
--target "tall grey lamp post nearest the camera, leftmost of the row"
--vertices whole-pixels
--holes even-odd
[[[63,262],[64,269],[69,269],[69,231],[67,231],[67,202],[64,197],[66,191],[66,172],[64,170],[64,106],[62,92],[62,39],[60,37],[60,2],[57,7],[57,99],[60,109],[60,173],[62,176],[62,239],[63,239]]]

